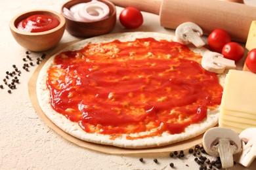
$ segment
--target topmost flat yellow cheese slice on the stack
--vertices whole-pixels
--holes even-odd
[[[256,114],[256,74],[230,70],[225,78],[221,109]]]

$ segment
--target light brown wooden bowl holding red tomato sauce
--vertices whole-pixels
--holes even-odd
[[[45,14],[53,16],[60,21],[60,24],[49,31],[43,31],[39,33],[28,33],[25,31],[20,31],[16,27],[18,22],[34,14]],[[12,36],[18,42],[18,44],[20,44],[27,50],[33,52],[42,52],[45,50],[49,50],[56,46],[56,44],[58,44],[58,42],[64,34],[65,24],[65,18],[61,14],[58,14],[57,12],[51,10],[31,10],[28,12],[23,12],[22,14],[18,14],[18,16],[12,18],[10,22],[10,29]]]

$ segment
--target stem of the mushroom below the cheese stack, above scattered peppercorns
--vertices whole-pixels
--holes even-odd
[[[234,165],[234,150],[236,150],[236,147],[234,145],[230,145],[230,139],[219,139],[218,152],[223,168],[232,167]]]

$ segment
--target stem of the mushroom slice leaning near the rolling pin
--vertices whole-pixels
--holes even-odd
[[[205,45],[205,42],[203,42],[200,35],[198,35],[198,31],[196,31],[194,29],[185,27],[184,35],[186,35],[189,42],[192,42],[192,44],[194,44],[194,46],[196,46],[198,48]]]

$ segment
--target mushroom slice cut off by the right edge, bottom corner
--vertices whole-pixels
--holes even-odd
[[[242,139],[242,154],[238,162],[249,167],[256,158],[256,127],[247,128],[239,135]]]

